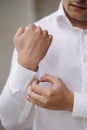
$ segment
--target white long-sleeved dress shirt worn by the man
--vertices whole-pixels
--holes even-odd
[[[73,27],[62,3],[53,14],[36,23],[54,38],[38,72],[17,63],[12,67],[0,97],[0,119],[6,130],[87,130],[87,30]],[[44,74],[60,77],[74,92],[73,112],[41,108],[26,100],[27,85]]]

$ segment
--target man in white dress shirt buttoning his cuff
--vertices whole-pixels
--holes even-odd
[[[19,28],[14,44],[1,95],[3,126],[86,130],[87,0],[63,0],[57,12]]]

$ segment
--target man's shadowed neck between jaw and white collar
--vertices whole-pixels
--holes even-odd
[[[87,29],[87,21],[80,21],[80,20],[76,20],[74,18],[71,18],[67,12],[65,11],[65,14],[67,16],[67,18],[70,20],[70,22],[72,23],[72,25],[74,27],[79,27],[79,28],[82,28],[82,29]]]

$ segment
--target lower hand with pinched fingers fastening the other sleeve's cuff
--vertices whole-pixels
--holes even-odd
[[[49,82],[51,86],[41,87],[40,82]],[[28,86],[27,99],[47,109],[72,111],[74,95],[61,79],[44,75],[41,81],[35,80]]]

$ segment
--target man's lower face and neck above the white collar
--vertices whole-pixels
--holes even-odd
[[[87,0],[63,0],[63,7],[72,25],[87,29]]]

